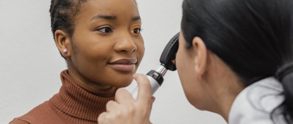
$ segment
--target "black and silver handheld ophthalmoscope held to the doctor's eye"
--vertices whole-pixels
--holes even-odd
[[[160,62],[161,64],[154,70],[149,71],[146,74],[146,77],[149,79],[149,82],[152,87],[152,95],[158,90],[158,88],[162,85],[164,81],[164,76],[167,70],[175,71],[176,66],[173,64],[172,60],[175,60],[176,53],[178,51],[178,43],[179,43],[179,33],[177,33],[166,45],[164,51],[162,52]],[[132,92],[131,95],[134,100],[137,99],[138,95],[137,86]]]

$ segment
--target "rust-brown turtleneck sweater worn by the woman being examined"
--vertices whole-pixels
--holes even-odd
[[[97,124],[99,114],[106,111],[108,101],[115,99],[118,88],[90,90],[70,78],[66,70],[60,77],[59,93],[9,124]]]

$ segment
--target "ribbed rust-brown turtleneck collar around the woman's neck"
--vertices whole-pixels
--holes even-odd
[[[106,111],[107,102],[115,100],[118,88],[90,90],[74,81],[67,70],[62,71],[60,77],[62,81],[60,91],[50,101],[55,107],[73,117],[96,121],[100,113]]]

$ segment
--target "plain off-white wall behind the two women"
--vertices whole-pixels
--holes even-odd
[[[137,0],[145,41],[138,73],[159,64],[166,43],[180,30],[182,0]],[[52,38],[50,0],[0,0],[0,123],[7,124],[51,98],[66,69]],[[132,83],[128,90],[132,90]],[[226,124],[185,98],[177,72],[167,72],[155,93],[154,124]]]

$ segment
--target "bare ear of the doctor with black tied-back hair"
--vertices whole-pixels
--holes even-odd
[[[202,41],[202,38],[195,37],[192,40],[192,46],[195,55],[195,72],[197,79],[199,81],[202,81],[203,76],[206,72],[206,66],[207,66],[207,49],[206,44]]]

